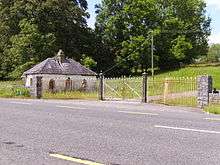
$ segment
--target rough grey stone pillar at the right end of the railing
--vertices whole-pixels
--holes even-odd
[[[209,94],[212,93],[212,77],[200,76],[198,77],[198,107],[204,108],[209,105]]]

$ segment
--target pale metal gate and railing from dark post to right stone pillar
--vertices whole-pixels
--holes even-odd
[[[147,88],[144,88],[146,81]],[[197,106],[197,77],[121,77],[103,79],[105,100],[144,100],[166,105]]]

